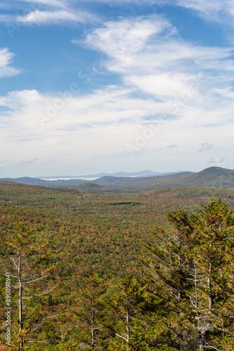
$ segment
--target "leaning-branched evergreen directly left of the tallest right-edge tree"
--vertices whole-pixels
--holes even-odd
[[[194,350],[189,309],[191,218],[179,210],[167,213],[167,220],[172,229],[156,226],[152,231],[156,244],[146,246],[148,257],[143,260],[149,292],[147,322],[152,330],[149,344],[156,347],[153,350],[187,350],[189,345]]]

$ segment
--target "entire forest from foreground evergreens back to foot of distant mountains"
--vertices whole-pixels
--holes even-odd
[[[233,197],[1,183],[1,349],[233,350]]]

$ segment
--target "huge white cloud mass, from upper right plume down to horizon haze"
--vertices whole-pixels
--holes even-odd
[[[106,162],[119,171],[118,160],[120,165],[123,160],[128,165],[155,162],[154,169],[161,165],[158,171],[179,169],[181,164],[193,169],[193,164],[207,164],[198,145],[206,150],[214,145],[226,159],[231,157],[231,48],[189,44],[174,34],[170,22],[156,15],[109,21],[92,30],[86,44],[104,53],[104,67],[121,79],[118,86],[74,94],[64,101],[56,93],[27,90],[0,97],[5,109],[0,113],[0,143],[6,150],[0,163],[38,159],[32,167],[40,171],[44,162],[48,175],[53,164],[64,169],[74,160],[82,173],[104,171]],[[148,138],[147,128],[160,118],[160,131]],[[204,143],[207,130],[209,145]],[[130,159],[125,145],[139,145],[141,138],[142,145]],[[209,157],[218,159],[213,150]],[[165,163],[167,170],[162,168]]]

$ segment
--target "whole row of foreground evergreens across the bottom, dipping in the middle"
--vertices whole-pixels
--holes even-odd
[[[47,256],[50,243],[16,220],[1,241],[13,272],[11,349],[234,350],[233,212],[212,199],[167,221],[138,274],[106,279],[94,269],[70,282]]]

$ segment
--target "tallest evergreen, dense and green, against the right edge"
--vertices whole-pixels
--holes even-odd
[[[191,216],[191,223],[199,350],[228,350],[234,347],[233,211],[212,199]]]

